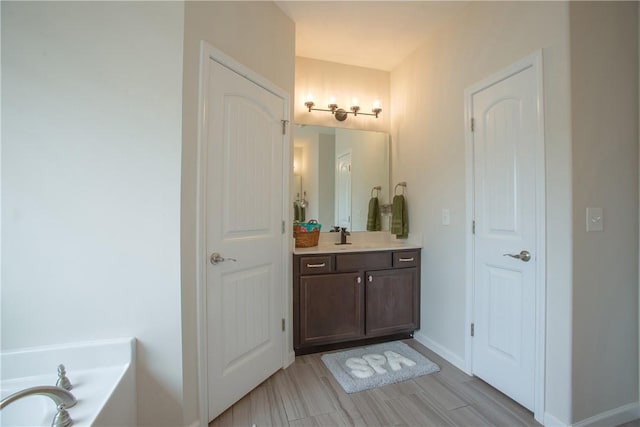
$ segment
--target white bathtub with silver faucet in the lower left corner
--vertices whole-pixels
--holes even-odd
[[[123,338],[3,352],[0,396],[55,385],[62,363],[78,400],[68,408],[74,427],[135,426],[135,344]],[[27,396],[0,411],[0,426],[50,426],[55,414],[48,397]]]

